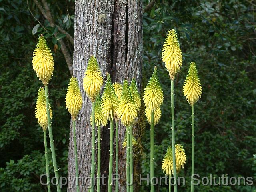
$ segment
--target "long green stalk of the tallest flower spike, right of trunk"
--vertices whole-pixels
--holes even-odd
[[[174,82],[171,80],[171,106],[172,106],[172,161],[174,176],[174,192],[177,192],[176,159],[175,159],[175,129],[174,129]]]

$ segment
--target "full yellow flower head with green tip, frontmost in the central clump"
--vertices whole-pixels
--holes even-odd
[[[136,105],[132,99],[128,81],[124,80],[122,95],[118,104],[118,118],[124,126],[130,126],[137,116]]]

